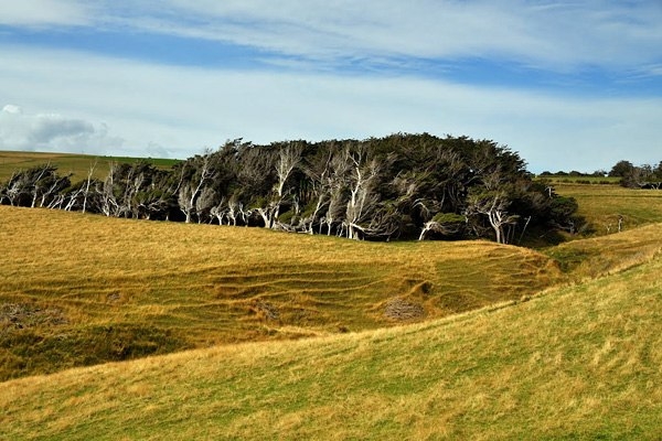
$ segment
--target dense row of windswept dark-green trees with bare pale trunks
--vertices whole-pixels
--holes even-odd
[[[572,197],[535,182],[508,147],[468,137],[227,141],[171,170],[111,163],[72,182],[52,164],[17,171],[0,204],[113,217],[259,226],[350,239],[490,238],[575,232]]]

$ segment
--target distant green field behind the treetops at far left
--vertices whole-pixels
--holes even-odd
[[[111,162],[132,163],[142,158],[126,157],[95,157],[88,154],[70,153],[38,153],[38,152],[12,152],[0,151],[0,182],[7,181],[17,170],[25,170],[35,165],[52,163],[57,165],[61,174],[73,173],[73,181],[82,181],[87,178],[92,165],[95,165],[94,176],[105,178],[108,174]],[[148,159],[156,166],[168,169],[179,160],[173,159]]]

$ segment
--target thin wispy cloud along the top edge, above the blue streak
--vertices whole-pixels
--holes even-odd
[[[660,61],[662,3],[451,0],[167,0],[106,23],[312,60],[500,57],[565,71]]]

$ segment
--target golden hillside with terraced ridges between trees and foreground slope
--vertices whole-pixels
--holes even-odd
[[[563,280],[493,243],[356,243],[0,206],[0,379],[446,316]]]

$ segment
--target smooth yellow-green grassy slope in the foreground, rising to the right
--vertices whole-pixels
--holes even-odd
[[[658,255],[509,308],[3,383],[0,438],[659,440],[661,271]]]

